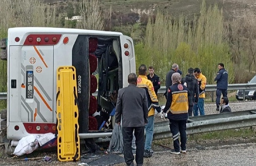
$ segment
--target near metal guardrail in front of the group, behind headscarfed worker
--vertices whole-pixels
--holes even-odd
[[[188,121],[190,121],[190,123],[186,124],[186,133],[188,135],[252,127],[256,126],[256,110],[189,117]],[[169,128],[169,120],[155,123],[153,140],[169,137],[172,137]]]

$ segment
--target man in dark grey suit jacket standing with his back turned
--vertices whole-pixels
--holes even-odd
[[[120,125],[122,116],[122,134],[124,142],[124,161],[127,166],[133,166],[132,133],[136,138],[137,166],[143,166],[144,157],[144,127],[148,119],[146,90],[138,88],[137,76],[130,73],[128,87],[119,89],[116,105],[116,123]]]

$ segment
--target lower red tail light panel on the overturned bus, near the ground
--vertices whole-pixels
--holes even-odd
[[[55,123],[23,123],[26,131],[30,134],[55,133]]]

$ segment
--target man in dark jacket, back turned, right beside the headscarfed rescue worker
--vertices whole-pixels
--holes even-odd
[[[188,88],[188,99],[189,99],[189,117],[192,116],[194,103],[198,102],[199,98],[199,87],[198,81],[194,76],[194,69],[189,68],[188,74],[181,79],[181,83]]]

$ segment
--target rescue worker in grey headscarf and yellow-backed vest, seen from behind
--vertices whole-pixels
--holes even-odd
[[[171,76],[172,85],[167,91],[167,101],[164,107],[164,115],[170,121],[170,130],[174,149],[172,154],[186,154],[186,120],[188,119],[189,100],[188,89],[181,84],[181,75],[174,73]],[[179,134],[181,144],[179,144]],[[181,149],[180,149],[181,147]]]

